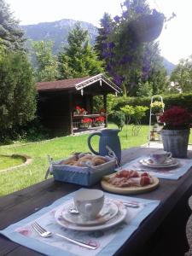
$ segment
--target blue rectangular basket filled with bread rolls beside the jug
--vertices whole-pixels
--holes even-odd
[[[49,160],[47,173],[57,181],[91,186],[114,172],[116,159],[90,153],[76,153],[64,160]]]

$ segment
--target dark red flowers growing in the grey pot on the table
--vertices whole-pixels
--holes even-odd
[[[192,113],[174,106],[160,115],[160,122],[166,123],[164,130],[183,130],[191,127]]]

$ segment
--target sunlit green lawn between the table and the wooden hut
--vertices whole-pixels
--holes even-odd
[[[116,128],[115,125],[109,125],[109,128]],[[119,132],[121,148],[131,148],[147,143],[148,125],[143,125],[137,137],[132,136],[131,126],[128,127],[128,137],[126,138],[126,127]],[[57,137],[52,140],[42,141],[40,143],[15,143],[9,146],[1,146],[0,154],[27,154],[32,157],[32,163],[28,166],[21,166],[13,171],[0,172],[0,195],[7,195],[16,190],[31,186],[44,180],[44,174],[48,168],[47,155],[54,160],[66,158],[73,152],[88,152],[88,135]],[[98,139],[94,137],[92,146],[98,150]],[[190,137],[192,143],[192,136]]]

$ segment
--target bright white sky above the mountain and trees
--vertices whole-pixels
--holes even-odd
[[[112,17],[120,15],[124,0],[5,0],[21,25],[61,19],[81,20],[99,26],[104,12]],[[177,17],[167,23],[158,38],[160,54],[177,64],[192,55],[192,0],[148,0],[152,9],[166,17],[174,12]]]

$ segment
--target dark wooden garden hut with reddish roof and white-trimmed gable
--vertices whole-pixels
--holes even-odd
[[[103,96],[103,107],[107,112],[108,93],[122,92],[102,73],[92,77],[39,82],[37,90],[38,116],[53,136],[73,134],[82,119],[94,119],[101,115],[93,113],[93,96]],[[74,114],[76,106],[84,108],[87,113]],[[105,116],[107,126],[107,114],[102,115]]]

